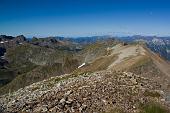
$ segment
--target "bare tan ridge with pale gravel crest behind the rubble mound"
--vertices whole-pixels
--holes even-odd
[[[147,77],[160,84],[169,101],[170,64],[144,45],[121,45],[109,48],[109,54],[74,71],[74,73],[100,70],[128,71]]]

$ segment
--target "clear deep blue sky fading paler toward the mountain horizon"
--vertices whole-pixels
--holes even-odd
[[[0,34],[170,36],[170,0],[0,0]]]

